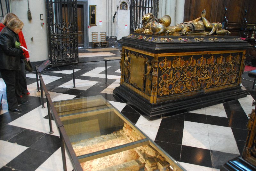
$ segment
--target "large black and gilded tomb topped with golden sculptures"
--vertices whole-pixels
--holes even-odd
[[[203,26],[205,30],[199,32],[191,28],[193,22],[206,21],[201,16],[174,27],[163,26],[161,32],[153,27],[157,22],[151,21],[150,26],[144,24],[120,39],[121,83],[114,94],[148,120],[245,97],[241,74],[245,50],[252,46],[239,37],[222,35],[230,32],[219,23],[210,23],[208,30]]]

